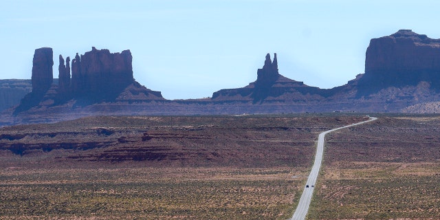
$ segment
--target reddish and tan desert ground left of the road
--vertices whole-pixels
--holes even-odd
[[[1,219],[287,219],[318,133],[364,116],[93,117],[0,129]]]

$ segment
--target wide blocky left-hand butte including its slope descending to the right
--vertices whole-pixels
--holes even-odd
[[[130,50],[110,53],[109,50],[92,47],[84,55],[77,53],[72,60],[69,98],[77,100],[77,104],[164,100],[159,91],[146,89],[135,81],[132,59]],[[67,63],[66,72],[68,71]]]

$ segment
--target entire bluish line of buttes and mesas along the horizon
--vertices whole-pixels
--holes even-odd
[[[41,52],[43,50],[44,52]],[[54,122],[87,115],[212,115],[291,112],[420,112],[440,100],[440,40],[411,30],[371,39],[365,73],[346,85],[320,89],[278,72],[274,54],[265,56],[248,86],[221,89],[212,98],[166,100],[133,78],[131,53],[96,50],[66,63],[60,55],[60,83],[50,84],[52,49],[37,49],[32,92],[5,111],[3,124]],[[43,56],[43,57],[40,57]],[[70,71],[71,70],[71,71]],[[72,72],[72,76],[70,73]],[[429,104],[430,107],[423,107]],[[425,109],[425,110],[421,110]],[[433,110],[437,111],[437,110]],[[13,114],[12,114],[13,113]],[[2,123],[0,121],[0,123]]]

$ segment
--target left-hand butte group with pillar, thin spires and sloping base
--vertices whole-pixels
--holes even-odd
[[[66,63],[59,56],[58,85],[52,85],[52,48],[35,50],[32,67],[32,92],[26,95],[14,114],[32,107],[43,109],[60,106],[73,100],[75,106],[86,106],[99,102],[146,102],[164,100],[159,91],[152,91],[137,83],[133,78],[132,56],[129,50],[110,53],[109,50],[96,50],[84,55],[76,54]],[[71,103],[72,104],[72,103]]]

